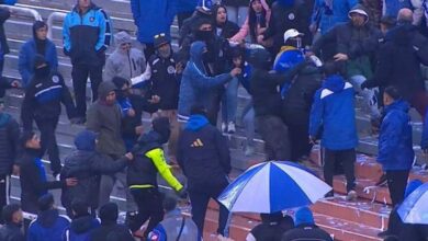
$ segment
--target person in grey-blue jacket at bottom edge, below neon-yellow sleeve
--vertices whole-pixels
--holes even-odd
[[[198,227],[192,219],[184,217],[181,210],[177,208],[177,199],[172,196],[166,196],[164,199],[165,218],[148,234],[151,241],[201,241],[198,234]],[[177,229],[180,227],[180,229]]]

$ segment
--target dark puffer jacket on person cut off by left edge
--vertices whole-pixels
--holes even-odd
[[[12,172],[18,157],[20,127],[9,114],[0,112],[0,175]]]

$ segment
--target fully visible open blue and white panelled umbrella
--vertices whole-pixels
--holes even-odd
[[[270,214],[314,204],[331,187],[306,168],[288,161],[256,164],[218,196],[230,211]]]

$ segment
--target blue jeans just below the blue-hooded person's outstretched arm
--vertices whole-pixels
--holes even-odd
[[[238,107],[238,78],[227,83],[226,91],[222,96],[222,119],[224,123],[236,122],[236,110]]]

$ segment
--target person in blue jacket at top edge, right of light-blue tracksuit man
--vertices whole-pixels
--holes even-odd
[[[155,54],[154,36],[165,33],[171,38],[171,24],[179,0],[131,0],[137,39],[145,45],[144,55],[149,59]],[[180,2],[180,7],[182,3]]]

